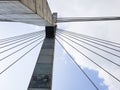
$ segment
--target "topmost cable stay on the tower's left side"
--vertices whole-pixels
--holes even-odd
[[[28,38],[30,38],[30,37],[33,37],[33,36],[36,36],[36,35],[39,35],[39,34],[41,34],[41,33],[43,33],[43,32],[39,32],[39,33],[36,33],[36,34],[30,34],[30,35],[25,35],[25,36],[22,36],[22,37],[19,37],[19,38],[14,38],[14,39],[9,39],[9,40],[6,40],[5,42],[3,42],[3,43],[0,43],[0,45],[4,45],[4,44],[8,44],[8,43],[11,43],[11,42],[14,42],[14,41],[17,41],[17,40],[21,40],[21,39],[28,39]],[[1,48],[1,47],[0,47]]]

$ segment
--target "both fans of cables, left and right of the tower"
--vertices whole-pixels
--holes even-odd
[[[6,60],[10,56],[13,56],[14,54],[24,50],[27,47],[30,47],[30,49],[27,50],[26,52],[23,52],[23,54],[20,57],[12,61],[12,63],[10,63],[2,71],[0,71],[0,75],[3,74],[5,71],[7,71],[9,68],[11,68],[18,61],[20,61],[25,55],[27,55],[35,47],[41,44],[44,40],[44,36],[45,36],[44,32],[45,31],[38,31],[38,32],[1,39],[0,55],[5,54],[8,51],[10,51],[10,53],[7,53],[4,57],[0,58],[0,62]],[[99,58],[101,58],[101,60],[110,63],[110,65],[112,65],[113,67],[120,68],[120,44],[119,43],[111,42],[111,41],[107,41],[107,40],[103,40],[103,39],[99,39],[99,38],[95,38],[95,37],[91,37],[83,34],[77,34],[74,32],[65,31],[61,29],[58,29],[56,32],[56,40],[61,45],[61,47],[67,52],[69,57],[73,60],[73,63],[82,71],[82,73],[85,75],[85,77],[89,80],[89,82],[94,86],[96,90],[100,90],[98,88],[98,85],[96,85],[95,81],[92,80],[92,78],[88,75],[88,73],[85,72],[84,69],[75,61],[75,59],[70,54],[70,52],[65,48],[63,42],[66,43],[71,48],[73,48],[75,51],[77,51],[80,55],[84,56],[87,60],[89,60],[94,65],[96,65],[98,68],[106,72],[106,74],[108,74],[110,77],[115,79],[117,82],[120,82],[120,79],[117,76],[115,76],[114,73],[111,73],[110,70],[100,65],[100,63],[96,62],[96,60],[89,57],[81,49],[79,49],[79,47],[81,47],[84,50],[87,50],[90,53],[98,56]],[[78,47],[74,45],[77,45]],[[16,50],[12,51],[15,48]],[[97,50],[99,50],[102,53],[98,52]],[[105,55],[103,55],[103,53],[105,53]],[[108,56],[110,55],[116,58],[117,60],[113,60],[109,58],[107,55]],[[99,62],[101,60],[99,59]]]

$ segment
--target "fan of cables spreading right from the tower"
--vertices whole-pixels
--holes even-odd
[[[69,57],[73,60],[74,64],[76,64],[78,66],[78,68],[83,72],[83,74],[86,76],[86,78],[96,88],[96,90],[99,90],[99,88],[95,84],[95,81],[93,81],[92,78],[89,77],[87,72],[85,72],[82,69],[82,67],[74,60],[73,56],[65,48],[63,43],[66,43],[73,50],[77,51],[80,55],[84,56],[87,60],[92,62],[94,65],[96,65],[99,69],[102,69],[104,72],[106,72],[106,74],[110,75],[113,79],[120,82],[120,79],[117,76],[115,76],[114,73],[111,73],[104,66],[100,65],[100,63],[96,62],[95,59],[89,57],[81,49],[79,49],[79,47],[81,47],[81,48],[89,51],[90,53],[98,56],[99,58],[101,58],[101,60],[110,63],[112,66],[120,68],[120,44],[119,43],[91,37],[88,35],[77,34],[74,32],[61,30],[61,29],[57,30],[56,40],[61,45],[61,47],[67,52]],[[75,45],[77,45],[78,47],[76,47]],[[99,52],[97,52],[97,50],[99,50]],[[102,53],[100,53],[100,52],[102,52]],[[117,60],[113,60],[113,59],[109,58],[108,56],[103,55],[103,53],[105,53],[105,55],[111,55],[112,57],[116,58]],[[99,62],[101,60],[99,60]],[[109,68],[111,68],[112,66],[110,66]]]

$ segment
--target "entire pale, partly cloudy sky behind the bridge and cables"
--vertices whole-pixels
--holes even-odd
[[[58,17],[92,17],[120,15],[119,0],[48,0],[48,2],[50,4],[52,12],[58,12]],[[58,28],[120,43],[119,24],[120,21],[63,23],[58,24]],[[38,27],[34,25],[1,22],[0,39],[43,29],[44,27]],[[80,55],[78,52],[73,50],[64,42],[62,43],[66,47],[66,49],[69,50],[76,62],[80,66],[82,66],[82,68],[91,76],[91,78],[100,88],[100,90],[120,89],[119,82],[114,80],[103,70],[96,67],[93,63],[89,62],[85,57]],[[2,90],[26,90],[40,48],[41,45],[36,47],[19,63],[15,64],[15,66],[13,66],[11,69],[9,69],[7,72],[0,76],[0,87],[2,88]],[[27,49],[25,49],[25,51]],[[79,47],[79,49],[92,59],[96,58],[97,62],[101,60],[101,62],[99,62],[100,65],[107,68],[107,70],[113,73],[116,77],[120,78],[119,67],[113,66],[112,64],[105,62],[103,59],[95,56],[94,54],[84,50],[81,47]],[[100,51],[98,52],[102,53]],[[52,87],[53,90],[96,90],[57,42],[55,47],[55,53],[55,68]],[[19,54],[21,54],[21,52],[19,52]],[[14,57],[17,57],[19,54],[16,54]],[[106,55],[105,53],[102,54]],[[114,57],[110,55],[107,56],[111,59],[114,59]],[[8,60],[12,59],[8,58]],[[115,58],[115,60],[120,63],[119,59]],[[11,61],[7,63],[4,61],[1,62],[0,70],[3,69],[5,65],[8,65],[10,62]]]

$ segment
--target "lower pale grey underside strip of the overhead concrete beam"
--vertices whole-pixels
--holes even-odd
[[[24,22],[33,25],[49,25],[44,19],[37,14],[5,14],[0,15],[0,21],[4,22]]]

